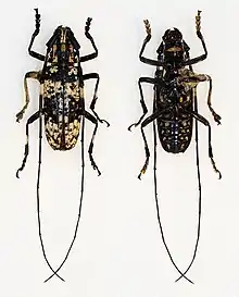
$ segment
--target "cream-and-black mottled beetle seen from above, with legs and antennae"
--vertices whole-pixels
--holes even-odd
[[[22,120],[25,110],[29,103],[29,92],[27,87],[27,78],[37,79],[40,83],[40,95],[39,95],[39,110],[34,113],[26,123],[26,145],[22,166],[17,170],[16,176],[18,177],[20,172],[25,168],[27,156],[29,152],[28,148],[28,129],[29,125],[36,120],[39,120],[39,161],[38,161],[38,176],[37,176],[37,213],[38,213],[38,228],[39,237],[41,243],[41,249],[45,257],[45,260],[53,274],[48,277],[45,282],[50,280],[53,275],[56,275],[62,281],[61,276],[58,275],[58,271],[65,263],[70,251],[73,247],[73,244],[76,238],[78,224],[81,213],[81,202],[83,202],[83,193],[84,193],[84,129],[85,129],[85,119],[91,122],[95,125],[92,133],[91,141],[89,145],[88,153],[91,165],[93,170],[98,172],[98,175],[101,174],[98,169],[93,157],[93,140],[98,129],[98,123],[110,124],[105,120],[101,120],[97,112],[95,111],[95,104],[97,102],[97,91],[99,86],[99,74],[89,73],[83,74],[81,62],[92,60],[98,57],[98,49],[96,47],[95,40],[89,34],[90,29],[90,17],[87,18],[85,26],[85,35],[90,40],[93,52],[87,55],[79,54],[79,44],[76,40],[73,32],[70,27],[59,26],[52,37],[47,42],[47,53],[42,55],[34,51],[33,44],[36,36],[40,32],[40,14],[38,9],[36,11],[36,29],[32,36],[30,44],[28,47],[28,53],[37,60],[43,61],[42,71],[32,71],[27,72],[24,78],[24,88],[26,95],[26,103],[23,109],[16,114],[16,121]],[[85,109],[85,99],[84,99],[84,82],[88,79],[97,79],[93,92],[93,99],[90,103],[90,110],[93,115]],[[46,256],[45,246],[41,237],[41,224],[40,224],[40,201],[39,201],[39,183],[40,183],[40,165],[41,165],[41,139],[42,139],[42,117],[45,124],[45,132],[48,144],[53,150],[71,150],[75,147],[79,131],[81,129],[81,190],[79,199],[79,209],[78,209],[78,219],[75,226],[74,238],[70,245],[70,248],[66,252],[64,260],[61,265],[54,270],[48,261]]]

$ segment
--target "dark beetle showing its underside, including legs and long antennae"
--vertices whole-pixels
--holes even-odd
[[[209,96],[207,96],[207,106],[217,124],[221,124],[221,116],[213,110],[211,102],[212,95],[212,78],[206,74],[197,74],[192,70],[192,64],[196,64],[200,61],[203,61],[207,57],[207,50],[205,46],[204,38],[201,33],[201,11],[198,11],[196,16],[196,32],[197,36],[201,40],[204,53],[191,59],[189,54],[189,46],[183,38],[183,34],[177,28],[167,29],[162,37],[162,42],[158,48],[158,60],[152,60],[143,57],[143,51],[146,45],[151,39],[151,27],[148,20],[144,21],[147,37],[142,44],[142,48],[139,53],[139,59],[141,62],[149,65],[156,66],[154,77],[140,77],[138,81],[139,92],[140,92],[140,104],[142,108],[142,115],[139,121],[128,127],[131,131],[133,126],[141,126],[141,135],[144,144],[146,151],[146,162],[138,175],[138,178],[141,178],[141,175],[146,173],[146,170],[149,164],[150,150],[148,147],[148,141],[144,134],[144,127],[149,124],[153,124],[153,138],[154,138],[154,197],[158,212],[158,221],[160,225],[161,236],[166,248],[166,251],[169,256],[169,259],[176,270],[180,273],[180,277],[186,279],[193,284],[191,280],[186,276],[186,273],[191,268],[198,249],[199,237],[200,237],[200,225],[201,225],[201,177],[199,169],[199,144],[198,144],[198,122],[204,124],[207,127],[209,132],[209,157],[211,159],[214,171],[218,174],[218,177],[222,178],[222,174],[216,168],[213,150],[211,144],[211,125],[209,121],[203,117],[198,112],[198,99],[197,99],[197,86],[201,82],[209,82]],[[153,99],[153,112],[147,119],[143,120],[144,115],[148,112],[143,91],[142,83],[151,84],[154,88],[154,99]],[[166,245],[164,238],[164,232],[162,228],[161,216],[160,216],[160,207],[158,200],[158,185],[156,185],[156,129],[160,138],[162,148],[166,152],[171,153],[183,153],[187,150],[191,143],[193,122],[196,127],[196,156],[197,156],[197,171],[198,171],[198,185],[199,185],[199,221],[198,221],[198,235],[196,247],[193,251],[193,257],[185,270],[181,272],[176,265],[172,253]]]

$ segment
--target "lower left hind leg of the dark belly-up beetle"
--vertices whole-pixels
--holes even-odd
[[[146,162],[140,171],[140,174],[138,175],[138,178],[141,180],[141,174],[146,173],[146,170],[148,168],[149,164],[149,158],[150,158],[150,151],[149,151],[149,146],[147,143],[147,138],[146,138],[146,134],[143,128],[149,125],[150,123],[152,123],[154,120],[156,120],[158,117],[160,117],[163,113],[165,113],[166,111],[168,111],[169,108],[164,109],[162,111],[156,110],[155,112],[153,112],[150,116],[148,116],[141,124],[141,134],[142,134],[142,139],[144,143],[144,150],[146,150]]]

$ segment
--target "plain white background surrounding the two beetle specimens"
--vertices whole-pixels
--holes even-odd
[[[15,114],[24,102],[23,77],[40,70],[27,47],[35,29],[34,8],[41,14],[41,32],[35,50],[43,53],[54,28],[70,26],[83,54],[92,51],[84,36],[85,22],[93,18],[91,34],[99,58],[84,64],[84,73],[101,76],[96,110],[111,127],[100,125],[95,158],[102,171],[92,170],[87,146],[92,125],[86,123],[86,183],[77,240],[60,275],[53,277],[41,255],[36,215],[38,123],[30,127],[30,152],[21,178],[25,123],[38,108],[38,83],[30,82],[30,104],[21,124]],[[213,106],[223,117],[217,126],[206,106],[207,85],[199,86],[199,111],[212,124],[214,157],[223,173],[218,181],[207,157],[207,131],[200,126],[202,174],[202,230],[197,259],[187,274],[191,285],[178,277],[164,249],[156,221],[152,158],[142,181],[137,180],[144,162],[139,128],[127,126],[141,115],[137,81],[153,76],[154,67],[139,62],[144,38],[143,18],[149,18],[152,39],[146,57],[155,51],[165,29],[178,27],[191,48],[202,53],[194,15],[202,10],[202,34],[207,60],[194,71],[213,77]],[[1,8],[0,99],[0,296],[1,297],[238,297],[239,202],[238,202],[238,7],[219,1],[8,1]],[[86,83],[86,102],[93,83]],[[152,87],[144,87],[149,112]],[[152,126],[146,129],[152,148]],[[42,233],[50,262],[56,268],[68,248],[77,218],[80,181],[80,143],[68,152],[42,145],[40,183]],[[159,146],[159,194],[165,236],[178,267],[191,260],[197,232],[198,184],[194,141],[184,154],[166,153]]]

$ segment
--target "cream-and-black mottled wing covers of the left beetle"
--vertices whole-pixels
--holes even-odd
[[[76,145],[83,98],[83,87],[78,82],[45,81],[45,129],[48,143],[54,150],[70,150]]]

